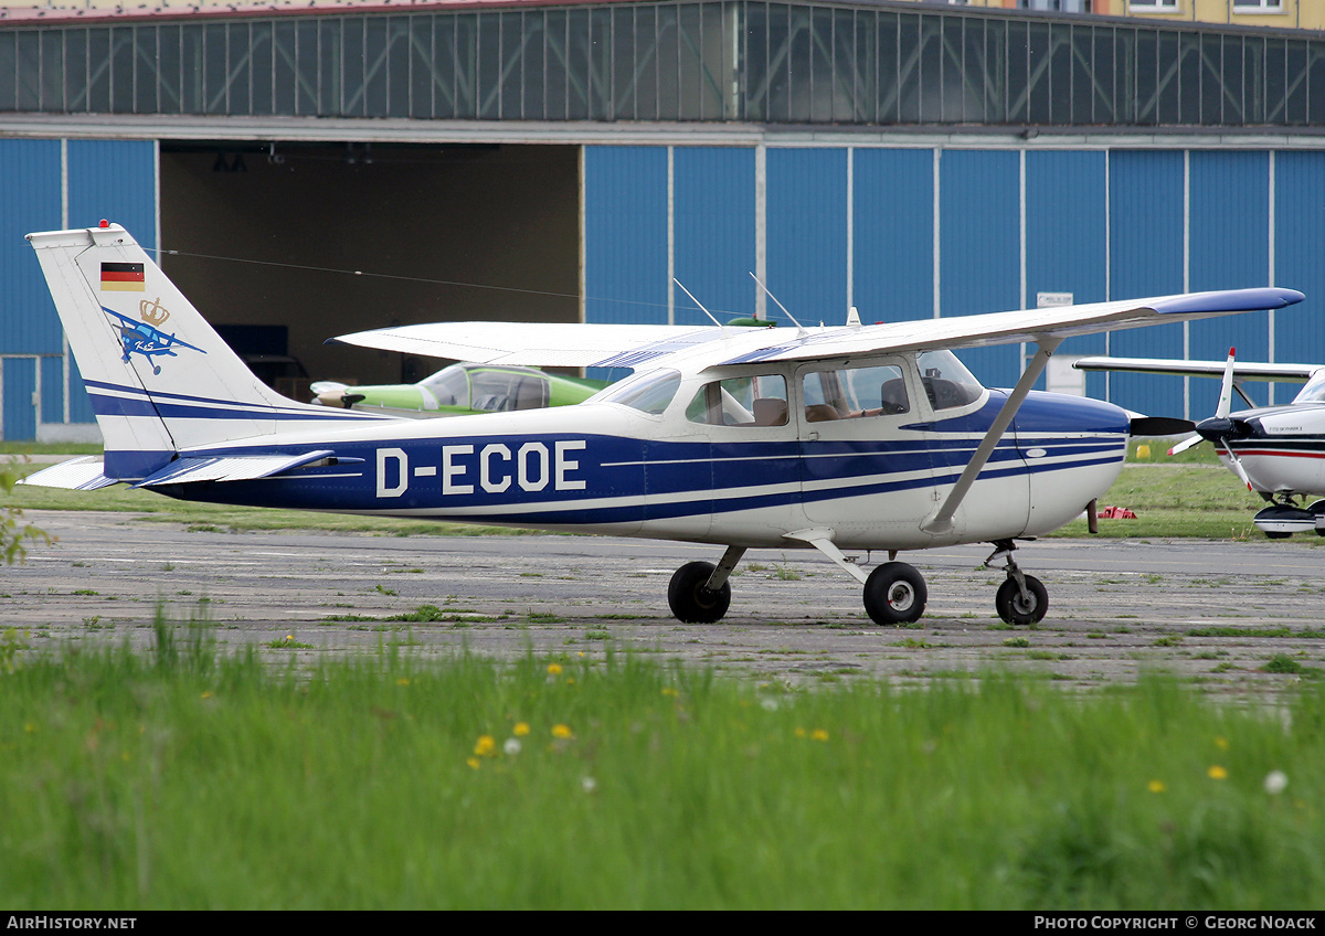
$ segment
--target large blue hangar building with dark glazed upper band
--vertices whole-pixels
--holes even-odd
[[[295,393],[428,373],[322,343],[392,323],[706,323],[673,279],[778,318],[749,273],[829,324],[1292,286],[1060,355],[1325,359],[1317,32],[886,0],[40,12],[0,16],[4,438],[94,434],[23,234],[103,217]],[[962,356],[1011,385],[1024,350]]]

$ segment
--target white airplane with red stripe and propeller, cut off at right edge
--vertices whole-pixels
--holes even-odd
[[[1271,539],[1316,531],[1325,536],[1325,499],[1298,506],[1325,494],[1325,364],[1271,364],[1238,361],[1234,348],[1228,359],[1174,360],[1150,357],[1083,357],[1073,367],[1081,371],[1134,371],[1175,373],[1192,377],[1223,377],[1215,414],[1196,424],[1196,434],[1169,449],[1177,454],[1202,441],[1215,446],[1215,454],[1247,486],[1264,498],[1265,507],[1252,523]],[[1257,406],[1242,384],[1247,380],[1306,381],[1289,404]],[[1249,409],[1232,410],[1236,392]]]

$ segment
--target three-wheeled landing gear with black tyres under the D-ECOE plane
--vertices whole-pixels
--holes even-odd
[[[889,561],[874,568],[868,576],[836,548],[815,543],[829,559],[845,568],[864,584],[865,612],[878,625],[913,624],[925,613],[929,589],[918,569],[906,563]],[[1012,560],[1016,545],[1012,540],[996,540],[994,552],[984,560],[986,568],[1003,563],[1007,580],[994,596],[994,608],[1007,624],[1039,624],[1049,608],[1049,593],[1035,576],[1028,576]],[[666,589],[668,605],[678,621],[685,624],[714,624],[721,621],[731,605],[731,569],[745,555],[743,547],[729,547],[722,560],[713,563],[686,563],[676,571]]]

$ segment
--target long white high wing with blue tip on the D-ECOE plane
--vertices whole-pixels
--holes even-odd
[[[1073,335],[1283,308],[1302,298],[1296,290],[1277,287],[1219,290],[799,332],[714,326],[447,322],[363,331],[333,340],[484,364],[633,368],[645,363],[660,364],[672,355],[693,351],[709,342],[739,338],[733,346],[735,353],[718,355],[710,364],[722,367],[1018,342],[1056,346]],[[716,350],[721,347],[716,346]]]

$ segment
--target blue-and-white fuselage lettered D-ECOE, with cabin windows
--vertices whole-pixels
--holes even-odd
[[[335,455],[262,481],[156,490],[747,547],[795,548],[788,532],[825,528],[843,548],[914,549],[1048,532],[1116,479],[1126,413],[1032,393],[953,527],[926,532],[1006,395],[974,379],[951,389],[938,375],[949,360],[961,368],[954,357],[918,357],[652,372],[575,406],[240,440],[182,454]]]

